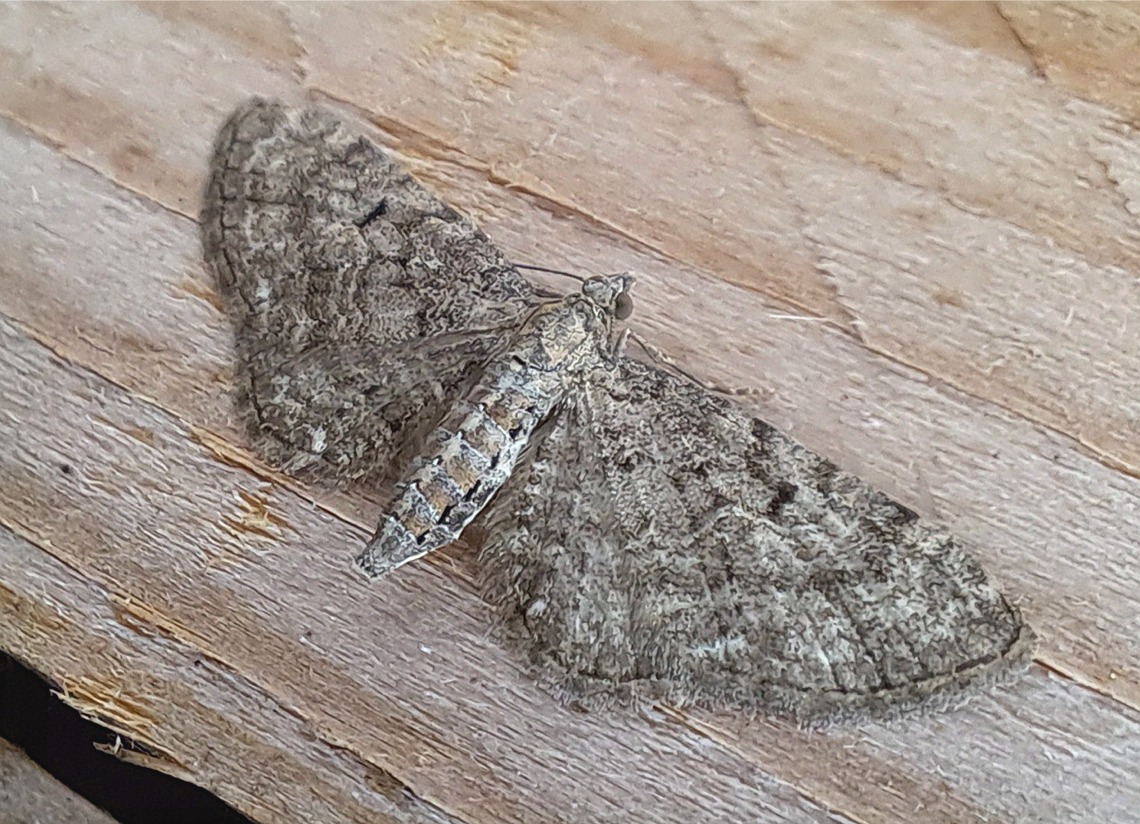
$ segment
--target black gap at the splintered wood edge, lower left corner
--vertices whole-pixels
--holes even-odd
[[[250,824],[201,786],[97,750],[96,744],[114,747],[115,733],[83,718],[2,651],[0,737],[122,824]]]

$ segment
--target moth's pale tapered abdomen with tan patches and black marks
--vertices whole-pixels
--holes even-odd
[[[553,399],[544,377],[519,365],[489,370],[443,418],[357,557],[365,574],[382,576],[459,537],[511,476],[549,411]]]

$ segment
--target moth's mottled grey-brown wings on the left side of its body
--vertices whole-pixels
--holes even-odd
[[[475,226],[318,108],[230,116],[202,238],[259,448],[340,479],[430,430],[537,300]]]

